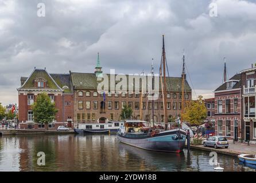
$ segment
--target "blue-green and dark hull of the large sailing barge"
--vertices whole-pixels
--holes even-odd
[[[183,151],[186,141],[185,131],[179,130],[180,138],[177,138],[178,130],[167,130],[164,133],[151,137],[129,138],[118,133],[118,140],[124,144],[137,148],[159,152],[180,153]]]

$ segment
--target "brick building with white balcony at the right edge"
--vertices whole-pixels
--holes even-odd
[[[252,143],[256,143],[256,116],[255,116],[256,73],[255,71],[256,71],[255,67],[241,71],[243,139],[245,141],[249,140]]]

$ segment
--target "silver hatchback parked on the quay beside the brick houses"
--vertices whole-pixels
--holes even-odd
[[[226,137],[223,136],[212,136],[209,137],[207,140],[204,140],[203,145],[212,146],[215,149],[217,148],[228,148],[228,141]]]

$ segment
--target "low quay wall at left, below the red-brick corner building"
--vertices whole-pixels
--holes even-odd
[[[19,129],[1,129],[0,136],[5,135],[24,135],[24,134],[73,134],[73,131],[53,131],[53,130],[19,130]]]

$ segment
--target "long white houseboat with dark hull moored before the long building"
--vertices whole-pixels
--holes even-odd
[[[107,123],[82,123],[77,124],[74,131],[76,133],[117,133],[119,126],[125,122],[113,121]]]

